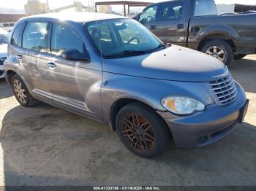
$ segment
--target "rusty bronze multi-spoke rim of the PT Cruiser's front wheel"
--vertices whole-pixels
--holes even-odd
[[[122,119],[122,134],[131,147],[140,152],[154,149],[156,140],[151,124],[138,114],[128,114]]]

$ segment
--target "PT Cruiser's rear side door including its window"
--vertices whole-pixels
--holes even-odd
[[[31,20],[26,23],[21,40],[21,52],[17,55],[23,63],[23,73],[29,87],[37,97],[51,101],[48,61],[49,22]]]

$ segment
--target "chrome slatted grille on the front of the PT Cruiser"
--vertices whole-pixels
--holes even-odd
[[[216,104],[224,106],[236,100],[236,85],[230,74],[208,82],[206,85]]]

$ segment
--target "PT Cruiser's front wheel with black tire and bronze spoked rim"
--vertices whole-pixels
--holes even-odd
[[[165,122],[148,106],[132,103],[116,117],[116,130],[123,144],[140,157],[156,157],[170,141]]]

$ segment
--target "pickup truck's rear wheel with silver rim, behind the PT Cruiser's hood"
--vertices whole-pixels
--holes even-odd
[[[223,40],[212,40],[203,45],[201,52],[217,58],[222,63],[228,64],[233,59],[233,50],[230,44]]]

